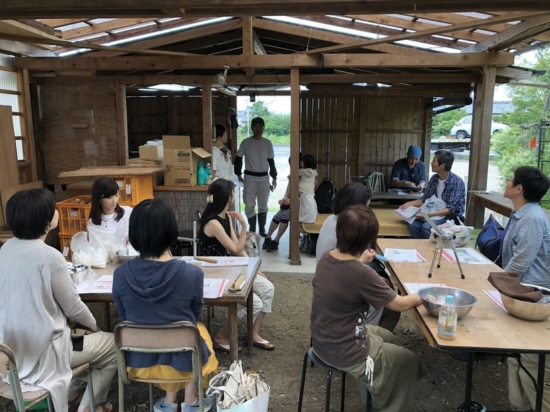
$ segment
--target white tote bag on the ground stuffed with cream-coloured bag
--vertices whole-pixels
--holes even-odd
[[[223,411],[267,412],[270,387],[258,374],[245,373],[241,361],[210,379],[206,395],[215,393],[217,407]]]

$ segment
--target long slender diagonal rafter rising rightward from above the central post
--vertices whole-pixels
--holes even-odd
[[[550,13],[542,13],[543,14],[550,14]],[[327,53],[327,52],[340,52],[342,50],[346,49],[354,49],[355,47],[366,47],[369,45],[380,45],[384,43],[392,43],[395,41],[404,41],[404,40],[411,40],[413,38],[419,38],[419,37],[425,37],[425,36],[434,36],[436,34],[445,34],[447,32],[455,32],[457,30],[472,30],[476,27],[483,27],[485,25],[491,25],[494,23],[503,23],[505,21],[514,21],[520,19],[521,14],[514,14],[514,18],[511,16],[508,16],[507,14],[505,16],[496,16],[496,17],[490,17],[489,19],[484,20],[478,20],[476,22],[468,22],[468,23],[461,23],[456,25],[450,25],[450,26],[443,26],[443,27],[434,27],[432,29],[428,30],[421,30],[419,32],[413,32],[413,33],[404,33],[404,34],[397,34],[395,36],[387,36],[384,38],[377,38],[373,40],[367,40],[367,41],[355,41],[353,43],[348,43],[346,45],[339,45],[339,46],[331,46],[331,47],[322,47],[321,49],[315,49],[315,50],[309,50],[308,52],[303,53]],[[523,16],[532,16],[532,13],[525,13]]]

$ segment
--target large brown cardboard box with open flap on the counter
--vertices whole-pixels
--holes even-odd
[[[163,136],[165,186],[197,185],[199,161],[210,157],[203,148],[192,148],[189,136]]]

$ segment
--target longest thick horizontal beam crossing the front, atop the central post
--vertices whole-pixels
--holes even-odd
[[[513,54],[285,54],[278,56],[135,56],[113,58],[14,58],[14,67],[35,70],[172,70],[219,69],[230,67],[479,67],[507,66],[514,63]]]

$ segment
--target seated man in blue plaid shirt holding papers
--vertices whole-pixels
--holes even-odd
[[[410,201],[401,205],[399,209],[406,209],[409,206],[421,207],[430,197],[436,195],[445,203],[445,207],[436,211],[428,212],[428,216],[437,224],[446,220],[460,218],[463,220],[466,202],[466,190],[464,181],[451,172],[454,155],[449,150],[437,150],[432,160],[432,172],[435,174],[428,181],[422,198]],[[430,238],[431,226],[423,218],[417,218],[409,225],[410,235],[413,239]]]

